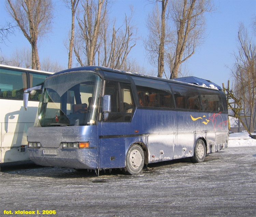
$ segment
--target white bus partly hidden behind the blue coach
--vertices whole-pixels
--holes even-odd
[[[23,108],[23,92],[37,86],[53,73],[0,64],[0,164],[30,160],[27,130],[33,126],[40,91],[29,96],[28,111]]]

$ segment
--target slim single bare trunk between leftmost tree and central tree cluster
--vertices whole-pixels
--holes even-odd
[[[72,54],[73,54],[73,43],[75,35],[75,13],[80,0],[63,0],[67,7],[71,9],[71,35],[69,40],[69,61],[68,68],[72,67]]]

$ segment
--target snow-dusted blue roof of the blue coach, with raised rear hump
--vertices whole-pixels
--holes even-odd
[[[210,80],[205,80],[205,79],[197,78],[194,76],[183,77],[183,78],[174,78],[174,79],[170,80],[170,79],[158,78],[158,77],[149,76],[149,75],[142,75],[142,74],[138,74],[138,73],[126,72],[126,71],[113,69],[113,68],[107,68],[107,67],[103,67],[103,66],[81,66],[81,67],[76,67],[76,68],[70,68],[70,69],[66,69],[66,70],[57,72],[51,76],[68,73],[68,72],[77,72],[77,71],[94,71],[94,72],[108,71],[108,72],[114,72],[114,73],[118,73],[118,74],[146,77],[146,78],[150,78],[150,79],[154,79],[154,80],[163,80],[163,81],[167,81],[167,82],[171,82],[171,83],[183,83],[183,84],[196,85],[196,86],[200,86],[203,88],[222,90],[222,88],[220,86],[211,82]],[[49,76],[49,77],[51,77],[51,76]]]

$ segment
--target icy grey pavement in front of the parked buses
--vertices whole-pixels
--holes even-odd
[[[120,170],[12,168],[0,173],[0,216],[256,216],[256,149],[232,147],[192,164],[172,160],[139,175]],[[6,211],[35,215],[5,215]],[[53,215],[43,210],[55,211]],[[37,214],[37,211],[40,214]]]

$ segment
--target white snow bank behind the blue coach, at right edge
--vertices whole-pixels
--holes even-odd
[[[255,135],[255,133],[252,133]],[[252,139],[247,132],[229,134],[228,147],[256,146],[256,139]]]

